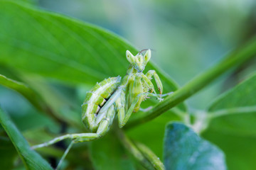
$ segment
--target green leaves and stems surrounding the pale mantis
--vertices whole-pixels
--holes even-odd
[[[68,143],[30,146],[87,132],[80,120],[85,92],[107,77],[123,77],[125,51],[138,50],[108,30],[22,1],[0,1],[0,30],[0,102],[7,112],[0,110],[0,166],[53,169]],[[183,101],[255,54],[252,38],[179,89],[149,62],[145,71],[155,69],[164,91],[174,93],[161,103],[145,101],[144,108],[154,107],[132,115],[124,130],[113,125],[102,139],[75,145],[63,169],[226,169],[226,161],[228,169],[253,169],[256,74],[205,111],[191,112]]]

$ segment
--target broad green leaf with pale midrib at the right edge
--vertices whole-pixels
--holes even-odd
[[[208,109],[203,136],[226,154],[229,169],[255,169],[256,74],[226,92]]]

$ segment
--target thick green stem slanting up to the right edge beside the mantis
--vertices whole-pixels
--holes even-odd
[[[203,87],[210,84],[211,81],[220,77],[221,74],[227,72],[232,67],[238,66],[250,58],[256,55],[256,38],[253,38],[245,46],[238,48],[225,57],[221,62],[219,62],[214,67],[208,69],[203,74],[192,79],[185,86],[181,87],[177,91],[174,91],[173,94],[165,98],[161,103],[156,104],[150,111],[147,111],[143,115],[140,115],[132,120],[130,120],[125,128],[131,128],[133,126],[146,123],[149,120],[152,120],[162,113],[168,111],[174,106],[178,105],[182,101],[186,100],[193,94],[196,94]]]

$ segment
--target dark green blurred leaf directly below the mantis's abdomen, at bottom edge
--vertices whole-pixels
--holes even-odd
[[[90,155],[96,170],[135,169],[132,159],[112,132],[90,144]]]

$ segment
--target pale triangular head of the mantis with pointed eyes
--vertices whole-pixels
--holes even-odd
[[[135,56],[132,55],[129,50],[127,50],[126,56],[129,63],[132,64],[132,67],[134,67],[134,69],[137,69],[138,72],[142,72],[146,67],[146,63],[149,62],[151,58],[151,50],[146,50],[146,53],[144,55],[142,55],[142,52],[139,52]]]

